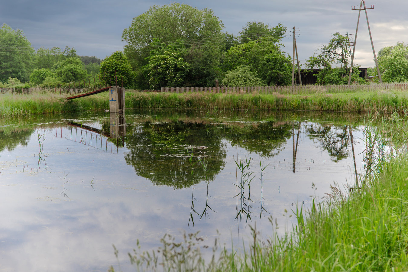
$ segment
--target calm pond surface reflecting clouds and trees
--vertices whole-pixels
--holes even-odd
[[[1,119],[0,271],[106,271],[117,268],[112,244],[127,271],[137,240],[151,250],[166,233],[200,231],[202,245],[220,237],[227,248],[247,241],[255,222],[263,237],[282,235],[297,203],[355,185],[363,119],[246,111]]]

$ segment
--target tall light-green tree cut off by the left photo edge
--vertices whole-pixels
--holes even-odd
[[[28,81],[34,51],[22,30],[3,24],[0,27],[0,81],[5,82],[9,77]]]

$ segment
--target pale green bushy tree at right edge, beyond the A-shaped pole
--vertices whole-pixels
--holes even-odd
[[[408,81],[408,45],[402,42],[378,52],[378,66],[384,82]]]

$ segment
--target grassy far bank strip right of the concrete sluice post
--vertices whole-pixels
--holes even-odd
[[[408,95],[401,91],[315,93],[308,95],[240,93],[127,93],[127,108],[224,108],[300,111],[402,111]]]

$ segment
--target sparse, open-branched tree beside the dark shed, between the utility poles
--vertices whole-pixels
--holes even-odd
[[[319,53],[314,53],[306,61],[306,68],[309,71],[321,69],[317,76],[317,84],[338,85],[348,83],[348,68],[350,53],[350,41],[347,36],[339,32],[333,34],[327,45],[319,49]],[[306,70],[307,71],[307,70]],[[360,71],[353,67],[352,82],[364,83],[364,79],[359,77]]]

